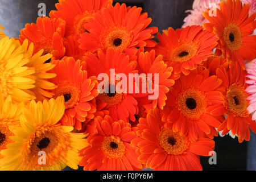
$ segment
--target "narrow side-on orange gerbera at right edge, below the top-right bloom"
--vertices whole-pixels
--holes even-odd
[[[230,130],[233,135],[238,136],[238,141],[250,140],[250,130],[256,133],[256,123],[251,119],[251,115],[247,110],[249,96],[245,92],[248,86],[245,83],[246,72],[243,71],[238,62],[230,64],[228,71],[224,67],[217,69],[217,76],[223,80],[221,90],[225,96],[225,102],[222,107],[218,107],[218,113],[226,114],[227,118],[218,127],[218,131],[222,131],[225,135]]]

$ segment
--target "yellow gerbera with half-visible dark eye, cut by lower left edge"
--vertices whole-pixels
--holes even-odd
[[[22,108],[24,104],[13,104],[11,102],[11,96],[8,96],[6,100],[3,100],[3,97],[0,93],[0,151],[6,149],[6,145],[12,143],[10,136],[13,135],[9,130],[9,127],[19,125],[19,117],[22,114]],[[3,155],[0,154],[0,159],[3,158]],[[1,168],[1,166],[0,166]]]

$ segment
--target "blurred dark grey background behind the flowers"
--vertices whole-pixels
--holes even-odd
[[[55,9],[57,0],[0,0],[0,23],[6,28],[7,36],[18,37],[26,23],[36,22],[39,3],[46,4],[47,15]],[[192,9],[193,0],[114,0],[114,3],[143,8],[152,18],[151,26],[159,31],[172,27],[180,28]],[[229,135],[214,138],[216,142],[217,164],[210,165],[209,157],[202,157],[204,170],[256,170],[256,134],[251,133],[250,142],[238,143]],[[68,169],[66,169],[68,170]]]

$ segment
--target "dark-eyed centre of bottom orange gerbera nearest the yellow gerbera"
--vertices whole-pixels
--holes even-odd
[[[113,135],[103,140],[101,150],[109,159],[122,158],[126,153],[125,144],[119,137],[114,137]]]

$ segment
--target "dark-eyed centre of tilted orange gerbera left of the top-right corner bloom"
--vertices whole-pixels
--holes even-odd
[[[172,63],[183,63],[194,57],[199,48],[199,43],[185,42],[169,51],[169,60]]]

